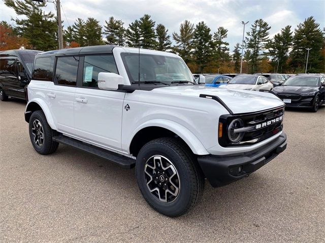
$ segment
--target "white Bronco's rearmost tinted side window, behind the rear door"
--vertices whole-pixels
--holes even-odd
[[[36,58],[32,79],[51,81],[53,78],[53,62],[51,57]]]

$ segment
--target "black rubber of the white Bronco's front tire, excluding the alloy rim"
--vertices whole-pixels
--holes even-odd
[[[150,192],[144,173],[147,161],[154,155],[164,156],[176,168],[179,193],[170,202],[163,202]],[[200,200],[204,189],[204,175],[192,151],[176,138],[158,138],[145,144],[136,161],[136,176],[140,191],[147,203],[169,217],[178,217],[191,210]],[[148,179],[147,179],[148,180]]]

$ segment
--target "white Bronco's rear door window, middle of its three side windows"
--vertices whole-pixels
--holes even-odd
[[[76,86],[78,64],[79,57],[58,57],[54,76],[57,84]]]

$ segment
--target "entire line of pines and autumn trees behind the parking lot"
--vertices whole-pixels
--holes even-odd
[[[53,13],[45,13],[46,3],[31,0],[5,0],[24,19],[13,19],[14,26],[0,22],[0,50],[28,48],[41,51],[54,50],[57,45],[57,20]],[[244,48],[243,72],[304,72],[309,52],[307,72],[325,72],[325,28],[310,16],[295,29],[284,26],[270,37],[271,26],[263,19],[255,20],[246,32],[244,46],[237,43],[231,48],[226,41],[228,29],[219,26],[215,32],[201,21],[197,24],[185,20],[179,31],[168,34],[164,24],[156,23],[150,15],[124,27],[122,20],[113,16],[104,26],[95,18],[78,18],[63,30],[67,48],[94,45],[118,45],[174,52],[181,56],[192,72],[239,72],[241,50]],[[173,41],[173,42],[172,42]]]

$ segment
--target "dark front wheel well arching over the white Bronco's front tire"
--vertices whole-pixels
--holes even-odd
[[[161,127],[148,127],[141,129],[132,139],[130,145],[130,153],[133,156],[137,156],[140,149],[145,145],[147,142],[156,139],[156,138],[165,138],[165,137],[174,137],[180,140],[185,146],[188,145],[185,143],[183,139],[181,139],[177,134],[174,132]],[[188,147],[189,151],[191,149]]]

